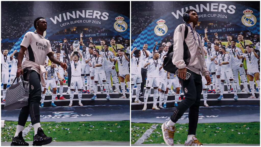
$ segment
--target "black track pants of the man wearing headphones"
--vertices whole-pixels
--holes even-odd
[[[176,123],[189,108],[188,135],[195,135],[198,126],[199,104],[202,92],[202,77],[191,70],[187,69],[187,72],[191,73],[188,80],[182,80],[179,77],[186,98],[179,103],[170,119]]]

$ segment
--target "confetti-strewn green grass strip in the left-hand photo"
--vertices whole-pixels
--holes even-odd
[[[26,122],[25,127],[30,122]],[[1,129],[1,141],[12,141],[17,122],[5,121]],[[91,122],[41,122],[44,133],[53,141],[129,141],[130,121]],[[34,130],[30,129],[25,141],[33,141]]]

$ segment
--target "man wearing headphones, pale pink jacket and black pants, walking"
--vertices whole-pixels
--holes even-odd
[[[195,26],[198,23],[197,12],[193,9],[187,10],[183,15],[183,20],[185,24],[180,24],[174,31],[172,63],[178,68],[178,77],[186,98],[179,103],[170,120],[163,123],[162,132],[165,143],[173,146],[173,138],[176,131],[174,125],[189,108],[189,129],[185,146],[200,146],[202,143],[195,137],[202,92],[202,77],[200,73],[206,78],[206,85],[210,85],[211,79],[205,63],[201,37],[195,31]],[[188,34],[185,38],[186,29],[188,29]],[[194,55],[193,58],[191,58],[190,54]],[[187,72],[190,73],[190,77],[186,80]]]

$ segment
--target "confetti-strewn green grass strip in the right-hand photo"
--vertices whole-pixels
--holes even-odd
[[[131,143],[137,140],[157,123],[131,123]],[[161,125],[145,140],[144,144],[164,143]],[[187,140],[188,124],[176,124],[174,144]],[[233,130],[233,131],[232,131]],[[199,123],[196,137],[204,144],[260,144],[260,122],[251,123]]]

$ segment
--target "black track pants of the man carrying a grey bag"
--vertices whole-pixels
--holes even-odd
[[[29,69],[23,70],[23,78],[29,82],[29,99],[28,105],[22,107],[19,117],[18,125],[25,126],[28,115],[30,114],[32,125],[40,122],[40,109],[39,105],[41,100],[41,85],[40,75]]]

